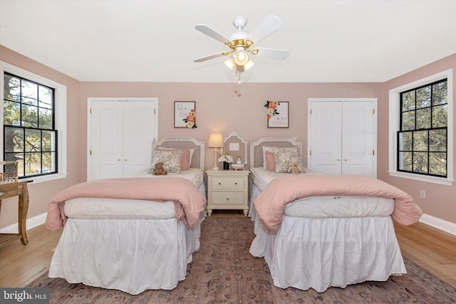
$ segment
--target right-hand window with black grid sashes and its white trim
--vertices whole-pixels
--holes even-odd
[[[451,185],[451,79],[448,70],[390,90],[390,174]]]

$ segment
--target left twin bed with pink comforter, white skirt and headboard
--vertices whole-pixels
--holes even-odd
[[[49,277],[133,295],[172,289],[185,279],[206,214],[204,141],[165,137],[152,145],[152,164],[166,159],[174,165],[175,157],[185,164],[165,167],[167,175],[146,169],[135,177],[77,184],[53,196],[46,226],[64,228]]]

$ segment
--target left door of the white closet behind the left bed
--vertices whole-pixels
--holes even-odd
[[[90,180],[123,176],[123,104],[92,103]]]

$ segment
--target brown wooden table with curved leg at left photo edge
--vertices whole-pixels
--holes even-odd
[[[0,234],[0,246],[5,245],[16,239],[21,239],[21,242],[26,245],[28,243],[26,233],[26,220],[28,211],[28,189],[27,184],[31,181],[23,182],[5,182],[0,183],[0,211],[1,211],[1,200],[7,199],[13,196],[19,196],[18,200],[18,226],[19,234]]]

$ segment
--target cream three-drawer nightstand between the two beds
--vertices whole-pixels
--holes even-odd
[[[249,174],[244,170],[212,170],[207,174],[207,215],[213,209],[241,209],[249,213]]]

